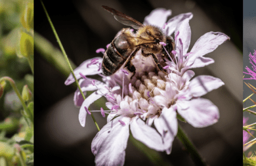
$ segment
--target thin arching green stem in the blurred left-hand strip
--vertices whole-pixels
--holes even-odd
[[[25,112],[26,112],[26,115],[28,115],[30,121],[31,121],[32,124],[33,124],[33,115],[31,114],[30,110],[28,110],[28,107],[26,106],[26,104],[25,104],[25,102],[24,102],[24,100],[23,100],[23,98],[22,98],[22,95],[21,95],[20,92],[18,91],[18,88],[16,87],[15,82],[13,81],[13,79],[11,79],[11,77],[1,77],[1,78],[0,78],[0,83],[1,83],[2,81],[8,81],[8,82],[11,84],[12,89],[15,91],[15,93],[16,93],[17,96],[18,96],[18,98],[20,99],[20,102],[21,102],[21,104],[22,104],[22,106],[23,106],[23,108],[24,108],[24,110],[25,110]],[[22,115],[23,115],[23,114],[22,114]],[[25,118],[26,118],[26,115],[24,115]],[[27,123],[28,123],[28,121],[27,121]],[[30,126],[29,123],[28,123],[28,126]]]

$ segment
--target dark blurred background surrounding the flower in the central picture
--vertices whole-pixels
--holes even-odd
[[[74,66],[79,66],[89,58],[103,56],[101,53],[96,54],[96,49],[106,49],[117,31],[126,27],[117,22],[112,14],[103,10],[101,5],[119,10],[139,22],[143,22],[145,16],[159,7],[171,9],[170,18],[192,12],[194,16],[190,20],[190,49],[200,36],[209,31],[221,31],[228,35],[230,41],[207,54],[215,63],[194,70],[196,75],[213,75],[225,83],[223,87],[203,96],[219,108],[219,122],[202,129],[186,123],[179,124],[209,165],[242,164],[242,1],[227,5],[216,0],[209,0],[207,4],[202,0],[43,2]],[[54,67],[58,60],[61,61],[62,58],[58,58],[61,53],[39,1],[35,2],[34,25],[35,165],[95,165],[91,141],[97,129],[89,116],[84,128],[79,125],[79,108],[75,108],[73,102],[76,88],[73,85],[64,85],[68,70]],[[91,110],[98,110],[102,105],[103,99],[90,107]],[[106,124],[106,118],[100,113],[94,115],[102,128]],[[169,165],[194,165],[177,138],[173,142],[171,154],[160,153],[160,156]],[[153,163],[129,141],[125,165]]]

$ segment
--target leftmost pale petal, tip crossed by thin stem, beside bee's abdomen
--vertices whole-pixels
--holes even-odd
[[[96,57],[98,59],[98,62],[102,62],[102,58],[101,57]],[[89,60],[85,60],[82,64],[80,64],[77,68],[75,68],[74,70],[74,74],[76,79],[81,78],[80,73],[82,73],[83,75],[95,75],[98,73],[102,73],[102,70],[100,68],[100,70],[98,70],[98,64],[92,64],[89,65],[91,63],[91,60],[93,60],[95,58],[91,58]],[[65,85],[70,85],[72,83],[74,83],[75,79],[72,75],[72,73],[70,73],[70,75],[68,76],[68,78],[65,81]]]

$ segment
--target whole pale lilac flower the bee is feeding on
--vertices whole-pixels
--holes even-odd
[[[194,72],[190,69],[213,63],[213,59],[203,55],[214,51],[229,37],[220,32],[205,33],[187,53],[191,37],[188,21],[192,14],[180,14],[165,23],[170,14],[171,10],[156,9],[144,20],[144,24],[158,26],[167,35],[175,31],[176,48],[173,55],[176,58],[165,62],[161,54],[157,55],[166,73],[158,71],[152,57],[142,56],[141,51],[133,59],[136,73],[132,79],[133,73],[128,72],[127,75],[123,67],[105,77],[92,60],[86,60],[74,70],[75,76],[81,78],[79,84],[83,92],[95,91],[84,101],[79,100],[79,91],[75,92],[75,105],[81,106],[79,122],[83,127],[87,115],[85,107],[88,108],[102,96],[108,100],[106,106],[109,111],[105,111],[110,113],[108,123],[97,133],[91,146],[96,165],[123,165],[129,129],[134,138],[149,148],[170,154],[177,135],[177,114],[194,127],[207,127],[219,119],[217,106],[200,96],[221,87],[223,81],[209,75],[192,79]],[[97,60],[98,63],[102,62],[102,58]],[[83,78],[77,72],[83,75],[98,74],[103,82]],[[95,85],[92,81],[95,81]],[[65,83],[69,85],[73,82],[74,78],[70,75]]]

